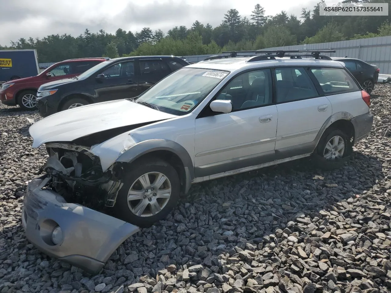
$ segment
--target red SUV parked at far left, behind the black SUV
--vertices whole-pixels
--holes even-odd
[[[49,66],[36,76],[5,82],[0,89],[0,100],[4,105],[19,105],[23,110],[35,110],[39,86],[54,80],[75,77],[108,59],[110,58],[69,59]]]

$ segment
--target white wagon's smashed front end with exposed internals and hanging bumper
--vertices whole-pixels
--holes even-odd
[[[140,229],[104,213],[122,182],[120,164],[105,172],[88,147],[47,143],[41,177],[26,188],[22,225],[39,250],[98,273],[119,245]]]

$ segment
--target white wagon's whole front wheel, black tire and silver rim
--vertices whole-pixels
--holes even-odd
[[[147,228],[165,219],[175,207],[178,203],[181,183],[175,168],[161,159],[149,158],[135,163],[128,171],[124,172],[124,185],[118,192],[113,211],[117,218],[138,227]],[[150,184],[145,180],[146,174],[149,174]],[[166,178],[164,181],[160,181],[159,190],[170,188],[169,197],[167,197],[167,193],[161,194],[159,197],[158,193],[154,192],[156,190],[149,189],[156,181],[159,181],[157,178],[161,179],[159,175]],[[144,186],[140,184],[140,178],[143,180]],[[145,189],[148,192],[145,192]],[[130,201],[128,200],[129,191],[135,191],[134,199]],[[166,198],[163,198],[164,195]],[[138,209],[139,207],[142,209]],[[153,207],[158,207],[158,209],[153,209]],[[159,209],[160,211],[158,211]]]

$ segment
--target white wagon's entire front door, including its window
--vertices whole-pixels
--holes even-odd
[[[230,100],[231,113],[206,106],[195,119],[195,176],[266,163],[274,158],[277,107],[269,69],[242,73],[214,99]],[[209,112],[208,112],[209,111]]]

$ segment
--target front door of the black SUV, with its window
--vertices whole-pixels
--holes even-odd
[[[95,80],[95,96],[98,102],[137,96],[138,75],[134,61],[113,64],[98,74],[105,77]]]

